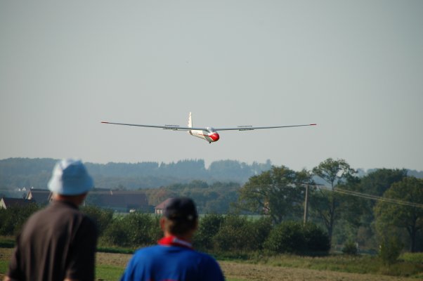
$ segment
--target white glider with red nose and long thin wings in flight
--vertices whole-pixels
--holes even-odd
[[[202,138],[203,140],[208,141],[209,143],[214,143],[219,141],[219,133],[217,131],[252,131],[257,129],[276,129],[276,128],[289,128],[289,127],[301,127],[301,126],[315,126],[316,124],[305,124],[305,125],[289,125],[289,126],[265,126],[265,127],[254,127],[254,126],[237,126],[233,128],[212,128],[212,127],[195,127],[193,126],[193,119],[190,116],[188,117],[188,126],[178,126],[178,125],[141,125],[141,124],[124,124],[124,123],[114,123],[114,122],[101,122],[103,124],[115,124],[115,125],[125,125],[125,126],[140,126],[140,127],[150,127],[150,128],[160,128],[165,130],[172,131],[188,131],[191,136],[196,136],[197,138]]]

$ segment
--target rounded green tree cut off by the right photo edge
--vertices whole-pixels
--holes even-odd
[[[415,252],[416,237],[423,228],[423,180],[403,178],[403,181],[393,183],[383,197],[386,200],[377,202],[375,206],[379,232],[385,233],[386,228],[392,226],[407,230],[410,251]]]

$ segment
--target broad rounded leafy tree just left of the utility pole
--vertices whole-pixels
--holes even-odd
[[[306,171],[295,172],[285,166],[273,166],[252,176],[240,189],[237,207],[256,214],[268,214],[274,223],[287,216],[299,216],[304,202],[304,185],[311,183]]]

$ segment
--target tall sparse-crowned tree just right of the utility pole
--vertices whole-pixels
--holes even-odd
[[[338,209],[342,197],[334,192],[334,188],[346,183],[349,178],[353,179],[355,173],[344,159],[328,158],[313,169],[313,174],[329,185],[329,190],[320,188],[320,192],[315,193],[311,205],[325,223],[331,242],[334,224],[340,218]]]

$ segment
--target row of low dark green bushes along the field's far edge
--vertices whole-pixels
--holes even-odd
[[[0,209],[0,235],[14,235],[22,223],[38,207]],[[99,231],[98,247],[129,247],[136,249],[156,244],[163,233],[160,216],[134,212],[115,215],[108,209],[82,207],[96,221]],[[329,237],[312,223],[287,221],[277,226],[271,218],[251,218],[237,214],[207,214],[200,216],[193,246],[201,251],[248,254],[254,251],[292,254],[327,254]]]

